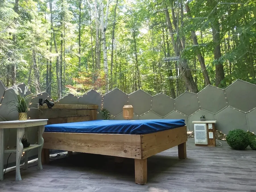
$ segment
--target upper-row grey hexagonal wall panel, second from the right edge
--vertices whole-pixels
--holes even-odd
[[[224,90],[208,85],[197,94],[202,109],[216,113],[228,104],[226,102]]]

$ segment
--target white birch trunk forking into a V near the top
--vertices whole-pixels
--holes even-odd
[[[106,29],[108,24],[108,10],[109,10],[109,0],[107,0],[107,7],[106,7],[106,14],[104,17],[104,10],[103,10],[103,3],[100,0],[100,13],[101,13],[101,40],[102,40],[102,51],[103,51],[103,66],[104,66],[104,73],[106,78],[106,91],[109,90],[108,88],[108,55],[107,55],[107,46],[106,46]]]

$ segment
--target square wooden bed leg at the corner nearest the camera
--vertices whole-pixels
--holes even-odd
[[[135,159],[135,183],[144,185],[147,182],[147,158]]]

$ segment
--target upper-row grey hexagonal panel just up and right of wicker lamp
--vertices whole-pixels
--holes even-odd
[[[152,96],[143,90],[137,90],[129,94],[128,103],[133,106],[133,112],[141,115],[150,110]]]

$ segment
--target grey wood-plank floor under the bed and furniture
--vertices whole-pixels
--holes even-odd
[[[177,147],[148,158],[146,185],[134,183],[132,159],[114,163],[110,157],[74,153],[43,170],[33,166],[37,162],[30,164],[21,170],[22,181],[15,181],[15,171],[7,173],[0,191],[256,191],[256,151],[232,150],[222,143],[215,148],[187,144],[184,160],[178,159]]]

